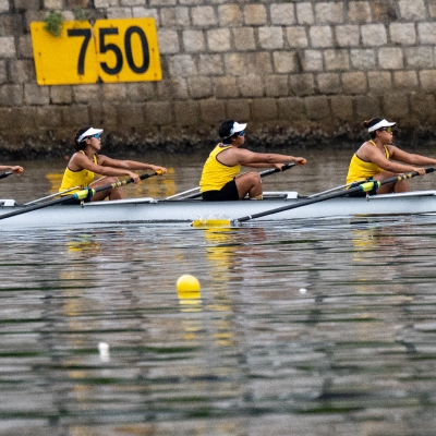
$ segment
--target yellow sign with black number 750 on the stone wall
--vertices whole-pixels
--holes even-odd
[[[65,22],[60,37],[44,27],[31,24],[39,85],[162,78],[154,19]]]

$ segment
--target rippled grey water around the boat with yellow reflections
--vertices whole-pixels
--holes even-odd
[[[350,150],[301,154],[267,190],[344,182]],[[194,187],[203,157],[149,160],[169,175],[129,196]],[[22,164],[1,197],[47,195],[65,165]],[[2,232],[0,246],[1,435],[435,434],[436,217]],[[198,294],[177,292],[183,274]]]

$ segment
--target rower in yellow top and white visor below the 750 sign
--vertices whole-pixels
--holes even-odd
[[[80,129],[74,136],[74,148],[76,153],[71,157],[65,172],[63,174],[62,184],[59,190],[64,195],[74,194],[81,187],[93,187],[107,185],[118,182],[119,175],[128,175],[135,183],[140,182],[140,175],[133,170],[153,170],[157,173],[165,174],[167,168],[158,167],[152,164],[137,162],[135,160],[118,160],[107,156],[99,155],[101,149],[100,135],[102,129],[94,129],[90,125]],[[98,180],[94,180],[95,173],[104,175]],[[80,187],[77,187],[80,186]],[[71,190],[76,187],[75,190]],[[111,187],[97,192],[92,198],[86,201],[122,199],[124,193],[121,187]],[[81,203],[78,199],[72,199],[68,204]]]

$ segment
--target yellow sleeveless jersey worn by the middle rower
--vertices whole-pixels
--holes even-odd
[[[207,158],[199,179],[199,192],[219,191],[225,184],[232,181],[241,171],[241,166],[229,167],[218,161],[217,156],[229,149],[231,145],[218,144]]]

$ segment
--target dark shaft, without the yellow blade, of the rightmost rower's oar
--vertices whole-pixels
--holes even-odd
[[[435,171],[435,168],[427,168],[425,170],[425,173],[433,172],[433,171]],[[358,192],[368,192],[374,186],[376,186],[378,189],[378,187],[380,187],[380,186],[383,186],[385,184],[400,182],[402,180],[411,179],[411,178],[413,178],[415,175],[420,175],[420,173],[416,172],[416,171],[412,171],[412,172],[409,172],[409,173],[405,173],[405,174],[399,174],[399,175],[396,175],[396,177],[392,177],[392,178],[389,178],[389,179],[386,179],[386,180],[382,180],[382,181],[371,181],[371,182],[361,183],[359,186],[351,187],[346,192],[336,192],[336,193],[331,193],[331,194],[328,194],[328,195],[323,195],[323,196],[319,196],[319,197],[303,199],[301,202],[298,202],[295,204],[291,204],[291,205],[288,205],[288,206],[281,206],[281,207],[277,207],[276,209],[270,209],[270,210],[265,210],[265,211],[261,211],[261,213],[253,214],[253,215],[247,215],[246,217],[242,217],[242,218],[235,219],[234,222],[249,221],[251,219],[266,217],[267,215],[274,215],[274,214],[278,214],[278,213],[283,211],[283,210],[295,209],[298,207],[307,206],[307,205],[311,205],[311,204],[324,202],[326,199],[337,198],[337,197],[344,196],[344,195],[348,195],[348,194],[354,194],[354,193],[358,193]]]

